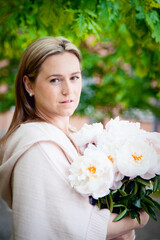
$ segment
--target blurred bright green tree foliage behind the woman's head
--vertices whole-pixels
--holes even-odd
[[[14,105],[14,80],[25,48],[44,36],[65,36],[82,52],[80,114],[149,109],[160,99],[160,0],[0,0],[0,112]],[[92,39],[92,41],[88,41]],[[107,52],[101,54],[97,46]],[[85,79],[98,76],[100,81]]]

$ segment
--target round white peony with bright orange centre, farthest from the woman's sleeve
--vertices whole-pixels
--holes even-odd
[[[125,176],[145,177],[145,174],[154,173],[152,167],[157,163],[155,150],[142,139],[131,139],[119,149],[117,167]]]

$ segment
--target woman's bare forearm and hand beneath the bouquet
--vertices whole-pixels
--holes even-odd
[[[110,216],[109,224],[108,224],[108,234],[107,239],[134,239],[133,231],[134,229],[144,227],[148,220],[149,216],[145,211],[140,212],[140,224],[138,223],[137,219],[131,219],[130,217],[125,217],[118,222],[113,222],[113,219],[117,216],[117,214],[112,213]],[[124,235],[124,236],[121,236]],[[121,238],[120,238],[121,236]],[[126,238],[128,236],[128,238]]]

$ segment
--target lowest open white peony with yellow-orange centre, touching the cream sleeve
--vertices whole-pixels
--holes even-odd
[[[96,148],[86,149],[70,168],[71,185],[81,194],[92,195],[95,199],[110,192],[113,185],[113,166],[107,156]]]

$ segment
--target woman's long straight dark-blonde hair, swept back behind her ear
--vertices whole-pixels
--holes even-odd
[[[28,95],[23,83],[26,75],[31,82],[35,82],[43,62],[52,55],[63,52],[73,53],[81,62],[81,54],[77,47],[64,37],[44,37],[34,41],[25,50],[21,59],[15,82],[15,112],[6,135],[0,143],[6,142],[8,137],[21,123],[30,121],[44,121],[35,112],[34,98]]]

